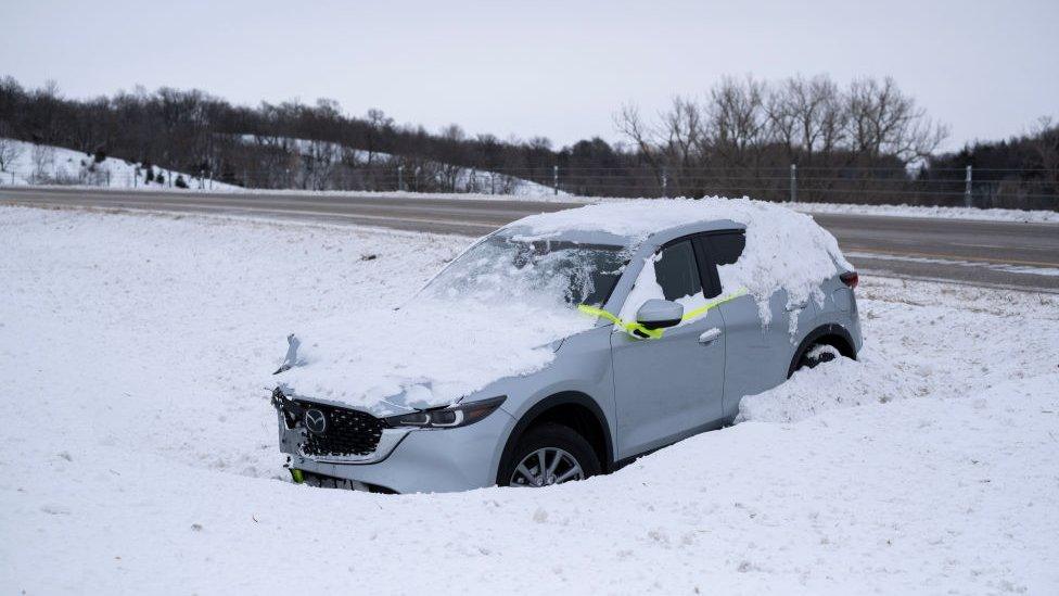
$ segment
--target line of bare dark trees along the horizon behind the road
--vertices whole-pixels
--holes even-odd
[[[624,105],[614,124],[620,142],[560,149],[457,125],[431,132],[380,110],[350,116],[329,99],[245,106],[137,88],[78,100],[54,84],[0,79],[0,137],[244,187],[506,192],[519,179],[552,186],[558,167],[560,188],[584,195],[959,204],[971,165],[983,206],[1055,208],[1059,194],[1059,127],[1042,122],[1031,135],[937,154],[947,129],[891,78],[725,77],[649,116]]]

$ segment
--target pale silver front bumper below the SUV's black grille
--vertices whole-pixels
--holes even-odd
[[[303,428],[278,413],[280,451],[292,469],[374,485],[397,493],[468,491],[496,484],[500,454],[514,419],[501,408],[455,429],[385,429],[365,456],[318,457],[299,452]]]

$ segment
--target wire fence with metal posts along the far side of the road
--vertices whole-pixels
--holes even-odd
[[[331,164],[328,168],[228,172],[194,176],[154,168],[52,170],[0,185],[107,188],[296,189],[455,192],[505,195],[742,196],[804,203],[909,204],[1059,211],[1059,170],[949,168],[907,172],[864,167],[538,167],[480,170],[460,166]]]

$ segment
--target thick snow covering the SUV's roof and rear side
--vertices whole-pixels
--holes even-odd
[[[733,221],[747,228],[747,249],[731,265],[718,267],[724,294],[745,289],[757,302],[763,325],[768,325],[768,299],[779,290],[788,293],[788,304],[813,299],[822,302],[820,283],[837,272],[853,270],[839,250],[834,237],[809,215],[777,203],[752,199],[711,196],[699,200],[640,199],[609,202],[575,210],[533,215],[509,227],[524,230],[526,237],[550,238],[579,231],[611,233],[639,243],[652,233],[694,223]],[[719,228],[730,225],[719,225]],[[654,282],[654,268],[643,267],[637,279],[636,304],[626,304],[627,317],[647,299],[663,297]],[[648,279],[645,279],[648,278]],[[646,292],[656,290],[650,295]],[[655,295],[656,294],[656,295]],[[701,301],[686,302],[692,308]],[[792,325],[793,328],[793,325]]]

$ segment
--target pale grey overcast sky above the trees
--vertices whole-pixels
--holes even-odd
[[[1059,116],[1059,0],[866,2],[2,0],[0,75],[66,97],[160,86],[319,97],[436,130],[616,140],[724,74],[892,75],[947,148]]]

